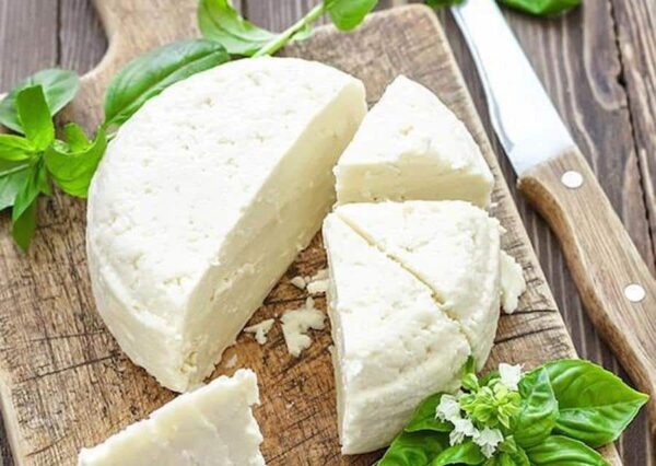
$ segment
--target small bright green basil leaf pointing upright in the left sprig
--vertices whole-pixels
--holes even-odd
[[[40,85],[25,88],[16,95],[16,112],[25,137],[37,151],[45,150],[55,140],[55,125],[46,95]]]

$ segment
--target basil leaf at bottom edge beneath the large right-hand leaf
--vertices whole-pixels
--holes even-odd
[[[604,466],[606,461],[585,443],[561,435],[551,435],[544,442],[526,451],[531,465]]]

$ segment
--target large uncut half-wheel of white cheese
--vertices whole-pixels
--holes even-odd
[[[97,310],[177,392],[208,376],[335,202],[363,84],[293,58],[235,60],[150,100],[89,193]]]

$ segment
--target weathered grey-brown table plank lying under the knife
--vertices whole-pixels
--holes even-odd
[[[441,18],[488,132],[493,135],[483,90],[467,46],[450,15],[442,12]],[[549,21],[511,12],[507,18],[559,112],[588,155],[613,207],[621,212],[639,251],[647,264],[653,264],[644,202],[640,190],[635,190],[640,186],[639,173],[630,140],[632,128],[625,94],[617,79],[618,56],[612,51],[599,54],[599,50],[613,50],[614,47],[608,4],[587,2],[584,10]],[[589,33],[582,34],[582,31]],[[582,61],[582,57],[587,60]],[[591,57],[598,62],[590,63]],[[497,153],[503,153],[494,142]],[[501,160],[501,165],[506,179],[514,179],[514,172],[505,159]],[[628,378],[583,310],[558,240],[517,196],[514,186],[513,195],[577,350],[584,358]],[[647,432],[646,416],[642,413],[619,442],[626,464],[653,464],[645,463],[653,456]]]

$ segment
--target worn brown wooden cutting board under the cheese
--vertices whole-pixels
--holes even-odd
[[[102,116],[104,89],[116,70],[145,49],[197,36],[196,0],[95,0],[110,38],[105,59],[83,80],[62,116],[90,130]],[[522,264],[528,283],[520,308],[501,318],[489,361],[532,366],[575,357],[529,244],[496,158],[434,13],[408,7],[377,13],[354,33],[326,26],[288,55],[320,60],[362,79],[370,104],[397,74],[425,84],[467,124],[496,177],[493,213],[507,233],[504,247]],[[94,310],[84,253],[84,202],[57,194],[39,206],[39,229],[27,255],[13,245],[9,218],[0,219],[0,400],[17,464],[71,465],[92,446],[147,417],[174,397],[120,351]],[[306,294],[290,283],[326,267],[320,238],[290,267],[251,324],[298,307]],[[325,299],[317,305],[325,308]],[[277,324],[260,347],[242,335],[215,375],[238,368],[258,374],[256,417],[270,465],[368,465],[378,455],[342,457],[337,439],[329,330],[314,334],[301,358],[288,354]],[[620,464],[614,448],[606,451]]]

